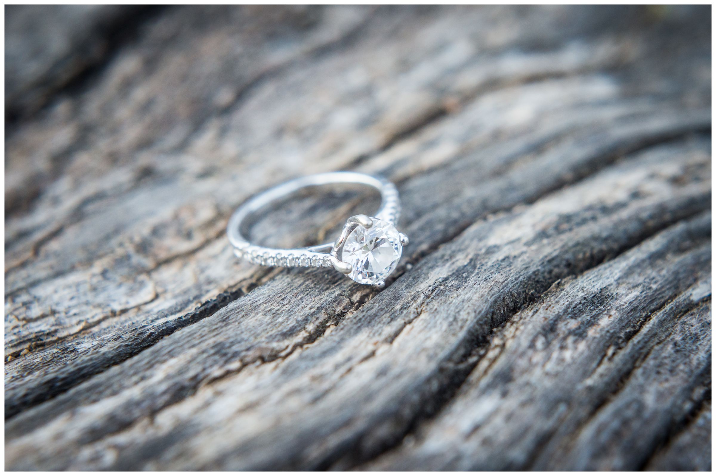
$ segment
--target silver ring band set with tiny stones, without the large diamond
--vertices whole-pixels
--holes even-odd
[[[234,254],[239,258],[245,258],[252,263],[264,266],[314,266],[331,268],[333,265],[329,259],[330,254],[318,250],[330,250],[333,243],[309,246],[307,248],[266,248],[251,244],[248,239],[241,234],[241,225],[247,218],[253,215],[253,213],[261,210],[261,208],[284,199],[302,188],[342,183],[368,185],[378,190],[381,196],[381,204],[377,213],[374,215],[375,218],[396,225],[400,215],[400,200],[398,199],[395,185],[390,183],[390,181],[357,172],[329,172],[306,175],[305,177],[289,180],[263,193],[259,193],[236,209],[233,215],[231,215],[231,218],[229,218],[226,227],[228,240],[231,246],[235,248]]]

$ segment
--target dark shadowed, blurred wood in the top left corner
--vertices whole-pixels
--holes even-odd
[[[102,64],[155,9],[116,5],[8,5],[5,115],[13,124]]]

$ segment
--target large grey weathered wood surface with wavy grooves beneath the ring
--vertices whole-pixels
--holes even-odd
[[[6,140],[7,469],[710,469],[707,7],[134,27]],[[382,291],[233,259],[326,170],[398,185]]]

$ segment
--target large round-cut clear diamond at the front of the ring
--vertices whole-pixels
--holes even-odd
[[[372,218],[373,225],[357,227],[347,236],[340,261],[352,266],[348,276],[362,284],[374,284],[395,270],[402,245],[400,233],[387,221]]]

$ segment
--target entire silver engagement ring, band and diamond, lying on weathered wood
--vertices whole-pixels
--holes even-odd
[[[349,218],[344,226],[343,233],[337,241],[306,248],[281,249],[254,245],[243,236],[241,226],[248,217],[258,212],[258,210],[261,210],[261,208],[284,199],[296,193],[296,191],[301,188],[341,183],[368,185],[379,191],[382,200],[379,210],[373,217],[356,215]],[[349,275],[354,281],[381,286],[384,284],[384,276],[387,276],[387,273],[382,271],[384,271],[384,268],[390,268],[390,266],[381,267],[379,264],[376,264],[377,261],[381,263],[387,262],[387,260],[392,259],[395,254],[397,254],[397,258],[400,258],[402,246],[407,245],[408,242],[407,236],[402,233],[397,233],[395,229],[399,216],[400,199],[398,198],[395,185],[390,183],[390,181],[357,172],[330,172],[289,180],[289,182],[282,183],[281,185],[277,185],[274,188],[255,195],[253,198],[247,200],[246,203],[243,203],[243,205],[237,208],[233,215],[231,215],[226,233],[231,246],[234,248],[234,254],[238,258],[246,259],[251,263],[263,266],[336,268],[338,271]],[[374,220],[378,226],[374,226]],[[356,233],[352,233],[357,228]],[[352,238],[348,239],[349,235],[352,235]],[[396,236],[398,238],[396,238]],[[372,249],[372,251],[363,249],[362,253],[364,254],[355,256],[357,251],[353,248],[357,247],[357,243],[354,243],[354,239],[362,241],[363,248],[366,246],[374,246],[374,249]],[[383,241],[381,241],[381,239]],[[395,243],[396,240],[400,241],[397,245]],[[347,256],[349,255],[354,261],[367,260],[373,261],[373,263],[353,263],[354,266],[352,266],[349,271],[347,264],[341,261],[343,246],[346,241],[349,241],[349,243],[351,243],[350,246],[352,246],[351,250],[347,251]],[[391,250],[394,248],[399,249],[393,251],[391,254]],[[365,253],[372,254],[368,256]],[[372,270],[354,269],[356,267],[360,268],[361,266],[363,268],[372,268]],[[392,266],[390,272],[392,272],[393,269],[395,269],[395,266]],[[352,271],[357,273],[358,278],[351,276]]]

